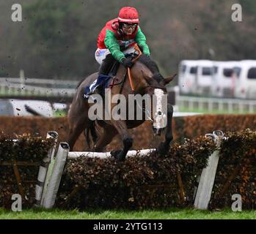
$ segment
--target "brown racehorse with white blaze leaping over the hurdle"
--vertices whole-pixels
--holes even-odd
[[[134,59],[135,60],[135,59]],[[176,74],[175,74],[176,75]],[[148,56],[140,54],[134,61],[134,66],[128,70],[125,69],[121,64],[117,70],[117,74],[114,77],[114,85],[111,87],[111,95],[123,94],[128,97],[129,94],[149,94],[150,97],[156,94],[156,91],[160,91],[161,94],[167,94],[167,89],[165,86],[169,83],[175,75],[169,78],[164,78],[158,69],[156,62],[151,60]],[[110,120],[95,120],[91,121],[88,116],[89,107],[92,106],[88,102],[88,99],[84,99],[84,89],[93,83],[93,81],[98,78],[98,72],[89,75],[82,82],[78,84],[76,89],[76,94],[73,97],[73,102],[70,105],[70,110],[68,113],[68,121],[70,125],[69,137],[67,143],[69,143],[70,151],[73,150],[73,146],[76,143],[79,135],[84,131],[84,135],[87,138],[87,143],[89,143],[89,132],[91,132],[92,138],[95,141],[95,152],[102,152],[104,147],[107,146],[113,137],[117,134],[122,138],[123,148],[122,150],[111,151],[112,156],[118,161],[124,161],[128,150],[133,144],[133,139],[128,132],[128,129],[138,127],[145,121],[142,120],[115,120],[111,117]],[[113,82],[112,82],[113,83]],[[111,103],[111,110],[117,105],[117,103]],[[145,105],[143,105],[145,107]],[[164,116],[161,111],[158,111],[160,116]],[[167,118],[166,127],[159,128],[156,124],[156,119],[151,119],[153,121],[153,131],[155,134],[160,135],[160,133],[165,129],[165,139],[161,142],[157,148],[159,155],[164,156],[169,151],[169,144],[172,141],[172,105],[167,105],[167,113],[165,118]],[[146,113],[145,113],[146,115]],[[159,116],[158,116],[159,117]],[[164,117],[163,117],[164,118]],[[95,123],[101,128],[102,134],[96,135],[95,133]]]

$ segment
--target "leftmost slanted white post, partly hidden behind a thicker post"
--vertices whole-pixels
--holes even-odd
[[[47,132],[46,139],[48,138],[54,138],[54,146],[52,146],[49,151],[47,156],[43,158],[43,162],[39,167],[39,172],[37,176],[37,184],[35,186],[35,205],[38,206],[41,203],[42,195],[43,195],[43,188],[45,185],[45,178],[46,174],[48,172],[48,167],[50,165],[51,159],[54,156],[54,152],[56,149],[56,142],[58,140],[58,133],[55,131],[49,131]]]

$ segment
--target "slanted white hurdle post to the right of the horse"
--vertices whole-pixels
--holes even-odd
[[[215,131],[213,134],[206,134],[205,137],[213,138],[216,146],[219,145],[224,137],[222,131]],[[213,152],[208,159],[208,167],[202,170],[200,177],[200,183],[197,189],[197,195],[194,200],[194,208],[205,210],[208,208],[208,204],[211,200],[211,192],[213,190],[213,184],[216,176],[216,170],[219,162],[219,149]]]

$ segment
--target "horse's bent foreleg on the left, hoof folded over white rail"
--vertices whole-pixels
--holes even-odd
[[[128,150],[133,145],[133,138],[131,138],[128,128],[126,126],[125,121],[112,121],[112,124],[114,125],[115,129],[117,129],[117,132],[122,137],[122,143],[123,148],[121,151],[112,151],[112,155],[118,160],[118,161],[124,161],[125,156],[128,152]]]

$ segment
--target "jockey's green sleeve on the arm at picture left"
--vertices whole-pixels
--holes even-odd
[[[125,55],[120,50],[120,45],[118,44],[113,31],[106,29],[106,37],[104,39],[104,43],[114,59],[117,59],[117,61],[121,62],[122,59],[125,58]]]

